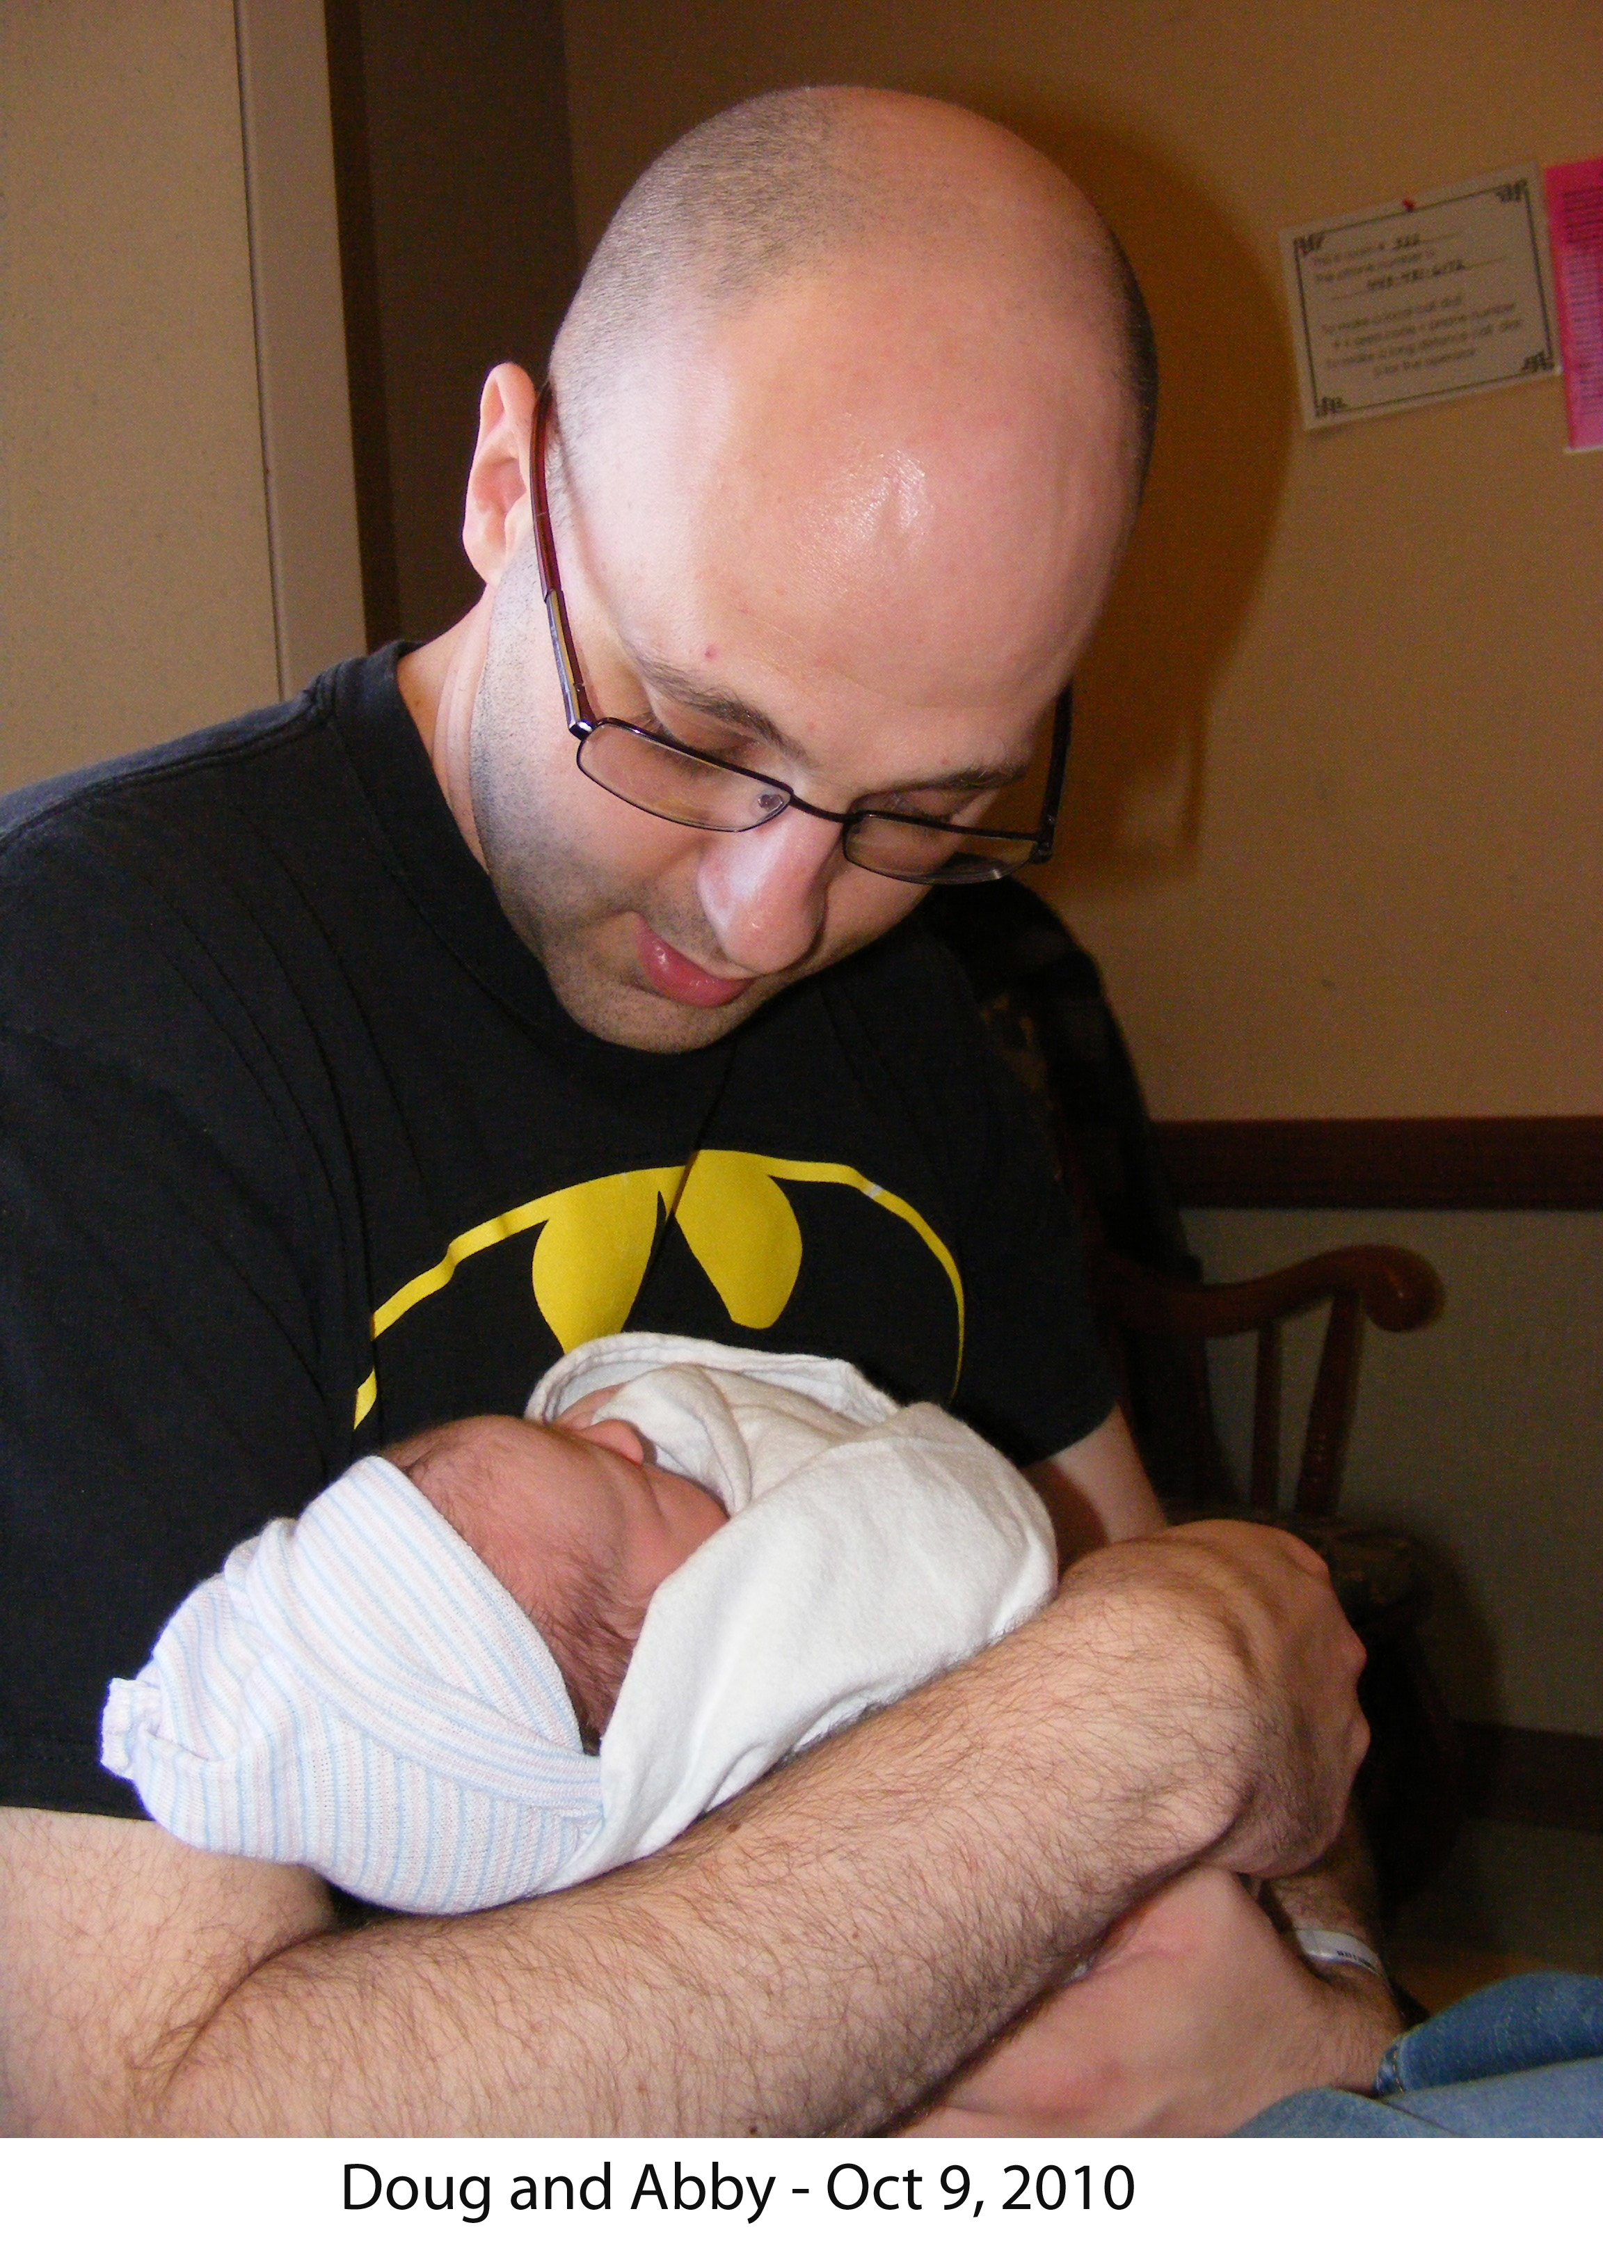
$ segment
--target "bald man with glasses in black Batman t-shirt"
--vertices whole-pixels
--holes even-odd
[[[489,377],[458,627],[9,803],[9,2126],[879,2126],[1136,1905],[1139,2068],[1084,1982],[956,2084],[969,2122],[1021,2081],[1060,2129],[1369,2081],[1384,1984],[1224,1876],[1332,1842],[1362,1653],[1299,1545],[1161,1531],[1046,1159],[904,925],[1046,850],[1051,805],[988,807],[1148,437],[1139,295],[1039,156],[769,97],[627,198],[546,399]],[[99,1703],[189,1585],[367,1450],[471,1477],[625,1324],[954,1403],[1048,1497],[1055,1606],[485,1917],[352,1924],[138,1822]]]

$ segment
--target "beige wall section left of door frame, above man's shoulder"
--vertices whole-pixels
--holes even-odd
[[[0,0],[0,787],[277,697],[230,0]]]

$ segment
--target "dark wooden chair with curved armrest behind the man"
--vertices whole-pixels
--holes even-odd
[[[1168,1191],[1139,1082],[1093,961],[1017,884],[931,895],[1042,1125],[1087,1238],[1087,1272],[1125,1414],[1175,1518],[1287,1527],[1330,1567],[1364,1639],[1360,1696],[1371,1754],[1360,1777],[1387,1908],[1445,1860],[1461,1824],[1459,1741],[1418,1626],[1432,1590],[1402,1533],[1339,1515],[1364,1324],[1416,1330],[1441,1308],[1429,1261],[1398,1245],[1344,1245],[1245,1283],[1202,1283]],[[1292,1509],[1281,1509],[1283,1326],[1328,1308]],[[1242,1495],[1217,1436],[1208,1342],[1254,1335],[1251,1470]]]

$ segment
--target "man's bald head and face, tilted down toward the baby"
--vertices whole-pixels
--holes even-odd
[[[906,916],[915,888],[854,866],[832,816],[981,825],[1028,771],[1130,534],[1148,368],[1102,221],[967,110],[769,95],[658,158],[552,354],[573,649],[597,715],[794,798],[706,832],[575,764],[534,392],[496,370],[464,828],[579,1024],[694,1049]]]

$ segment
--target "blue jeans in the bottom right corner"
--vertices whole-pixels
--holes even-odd
[[[1398,2036],[1373,2097],[1299,2090],[1236,2135],[1603,2138],[1603,1980],[1502,1980]]]

